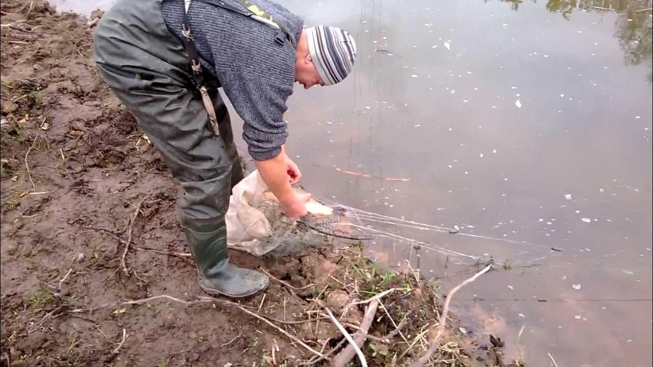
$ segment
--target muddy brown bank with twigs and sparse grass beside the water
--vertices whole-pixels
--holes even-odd
[[[272,279],[240,303],[202,298],[174,214],[176,183],[98,78],[92,16],[89,25],[41,1],[3,0],[0,10],[2,366],[328,365],[280,330],[327,353],[343,336],[323,304],[356,332],[366,304],[344,316],[343,305],[392,287],[370,328],[377,338],[362,348],[368,363],[422,354],[439,290],[409,270],[377,269],[355,244],[282,259],[232,251],[235,264],[286,283]],[[432,365],[503,365],[487,336],[450,323],[456,332]]]

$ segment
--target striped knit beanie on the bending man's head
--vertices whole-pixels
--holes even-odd
[[[342,82],[356,59],[356,42],[338,27],[317,25],[306,29],[308,52],[325,86]]]

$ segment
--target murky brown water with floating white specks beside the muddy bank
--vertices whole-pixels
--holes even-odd
[[[59,1],[86,14],[109,2],[81,3]],[[460,226],[366,222],[395,235],[372,242],[372,255],[409,259],[445,289],[476,259],[509,263],[452,306],[529,366],[549,366],[548,353],[560,367],[653,366],[652,18],[626,11],[650,0],[281,3],[358,44],[345,82],[289,100],[304,185]]]

